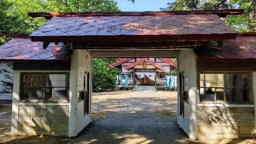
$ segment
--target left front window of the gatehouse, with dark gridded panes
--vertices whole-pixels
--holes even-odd
[[[20,101],[68,102],[68,73],[21,73]]]

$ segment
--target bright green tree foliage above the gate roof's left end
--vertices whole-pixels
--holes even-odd
[[[32,18],[28,12],[114,12],[114,0],[1,0],[0,34],[30,34],[45,18]]]

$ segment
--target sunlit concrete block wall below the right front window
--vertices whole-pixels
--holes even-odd
[[[254,107],[198,106],[198,139],[255,138]]]

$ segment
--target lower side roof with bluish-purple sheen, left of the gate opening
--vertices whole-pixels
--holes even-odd
[[[72,51],[63,43],[50,43],[43,49],[42,42],[31,42],[29,37],[14,36],[6,44],[0,46],[0,60],[60,60],[67,61]]]

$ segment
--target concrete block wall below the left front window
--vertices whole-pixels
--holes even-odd
[[[19,105],[18,134],[68,136],[68,107]]]

